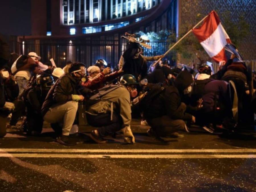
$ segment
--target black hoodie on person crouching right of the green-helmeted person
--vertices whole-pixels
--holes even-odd
[[[192,115],[178,110],[181,105],[180,94],[193,82],[192,75],[188,71],[182,71],[175,79],[175,86],[168,86],[161,92],[150,105],[150,111],[144,111],[146,119],[154,119],[168,115],[171,119],[190,121]],[[190,110],[190,109],[187,109]]]

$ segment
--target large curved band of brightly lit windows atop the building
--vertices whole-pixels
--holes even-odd
[[[62,0],[62,24],[121,18],[151,9],[162,0]],[[50,31],[50,29],[49,29]]]

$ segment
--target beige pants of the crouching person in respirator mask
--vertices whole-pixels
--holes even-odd
[[[78,102],[68,101],[65,104],[51,107],[44,115],[44,121],[48,123],[63,123],[62,135],[69,135],[75,121]]]

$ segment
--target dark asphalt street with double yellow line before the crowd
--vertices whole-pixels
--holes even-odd
[[[136,143],[93,143],[80,127],[76,146],[19,131],[0,139],[0,191],[256,191],[256,133],[212,135],[200,128],[156,141],[132,121]]]

